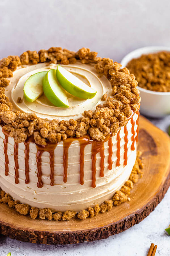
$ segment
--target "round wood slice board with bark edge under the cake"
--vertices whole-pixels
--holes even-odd
[[[94,218],[69,221],[33,220],[1,204],[0,233],[24,242],[72,244],[108,238],[146,218],[170,185],[170,139],[142,116],[139,129],[138,150],[144,158],[144,175],[134,185],[130,202]]]

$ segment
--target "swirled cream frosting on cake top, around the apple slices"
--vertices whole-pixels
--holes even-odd
[[[49,69],[56,69],[56,64],[39,63],[36,65],[20,66],[14,71],[13,77],[10,78],[10,85],[7,87],[6,94],[10,102],[13,103],[14,110],[20,110],[23,113],[34,112],[38,117],[52,119],[76,119],[82,116],[84,110],[94,110],[98,104],[101,104],[101,98],[107,92],[111,96],[111,84],[105,76],[99,77],[93,64],[83,65],[80,62],[69,65],[62,65],[65,69],[73,73],[83,82],[97,91],[92,99],[83,100],[69,93],[69,108],[59,108],[54,106],[44,94],[42,94],[35,102],[27,102],[23,98],[23,88],[25,81],[33,74]],[[21,103],[17,102],[18,97],[23,98]]]

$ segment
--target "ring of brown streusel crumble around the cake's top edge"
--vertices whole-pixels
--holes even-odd
[[[112,97],[103,96],[105,102],[99,104],[95,111],[84,111],[82,117],[69,121],[46,121],[35,113],[21,113],[13,111],[12,104],[5,95],[8,77],[20,65],[51,62],[67,65],[79,60],[84,64],[94,65],[99,75],[105,75],[112,85]],[[136,88],[135,76],[127,68],[121,69],[121,64],[109,58],[97,57],[97,52],[88,48],[81,48],[77,52],[51,47],[48,50],[26,51],[18,56],[8,56],[0,61],[0,120],[3,129],[15,142],[24,142],[33,136],[37,144],[46,145],[47,140],[57,143],[68,137],[81,137],[89,134],[92,139],[104,140],[108,134],[114,135],[121,126],[128,122],[128,117],[139,110],[140,97]],[[107,98],[107,99],[106,99]],[[21,101],[22,99],[18,99]]]

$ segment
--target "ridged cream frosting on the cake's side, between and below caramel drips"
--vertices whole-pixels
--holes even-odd
[[[117,162],[117,134],[111,137],[112,140],[112,169],[109,170],[109,141],[104,143],[104,176],[101,177],[101,156],[96,154],[95,185],[92,187],[92,144],[84,148],[84,184],[80,184],[80,144],[76,140],[71,143],[68,149],[67,182],[63,181],[63,141],[59,142],[54,150],[54,186],[50,185],[50,161],[49,153],[43,152],[41,157],[43,187],[37,187],[37,148],[35,143],[29,146],[29,183],[25,184],[25,144],[18,144],[18,174],[19,184],[15,183],[15,161],[14,161],[14,139],[8,137],[8,176],[5,176],[5,155],[3,141],[5,136],[0,130],[0,187],[21,203],[31,206],[53,210],[75,210],[79,211],[96,203],[102,203],[111,198],[126,180],[128,180],[136,158],[136,142],[134,150],[131,149],[132,138],[137,135],[137,114],[133,115],[134,131],[131,120],[128,121],[127,131],[127,165],[124,166],[125,133],[124,127],[120,128],[120,166]]]

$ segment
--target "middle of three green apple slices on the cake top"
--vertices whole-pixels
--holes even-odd
[[[61,108],[69,107],[67,94],[57,82],[55,69],[47,72],[42,83],[44,94],[52,104]]]

